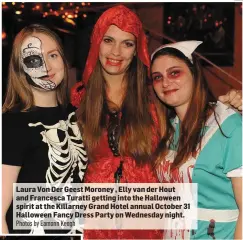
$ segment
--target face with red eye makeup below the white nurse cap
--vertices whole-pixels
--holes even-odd
[[[159,56],[152,64],[154,90],[161,101],[172,107],[187,109],[194,88],[187,64],[177,57]]]

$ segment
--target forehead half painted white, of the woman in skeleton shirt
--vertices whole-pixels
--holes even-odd
[[[48,52],[53,49],[58,49],[56,41],[54,41],[51,37],[43,33],[35,33],[27,37],[23,41],[21,50],[28,47],[40,49],[40,51],[42,52]]]

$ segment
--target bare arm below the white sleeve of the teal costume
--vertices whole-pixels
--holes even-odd
[[[236,224],[234,239],[243,239],[242,235],[242,177],[231,178],[235,201],[239,208],[239,217]]]

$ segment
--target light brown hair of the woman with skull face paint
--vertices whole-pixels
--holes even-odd
[[[40,24],[32,24],[23,28],[14,39],[9,63],[8,86],[2,112],[11,111],[16,107],[20,108],[20,111],[27,111],[34,106],[34,96],[31,86],[26,79],[26,74],[21,65],[21,46],[23,41],[34,33],[45,34],[52,38],[57,44],[65,69],[64,79],[57,87],[57,101],[60,105],[67,104],[68,65],[64,57],[61,40],[56,33],[49,28]]]

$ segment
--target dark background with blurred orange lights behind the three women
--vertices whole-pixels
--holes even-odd
[[[242,6],[240,3],[124,3],[141,19],[150,53],[171,40],[204,41],[197,51],[223,71],[242,80]],[[29,23],[41,23],[63,41],[69,63],[68,88],[81,79],[95,22],[112,2],[2,2],[2,99],[7,84],[7,68],[13,39]],[[204,71],[215,96],[239,82],[209,63]]]

